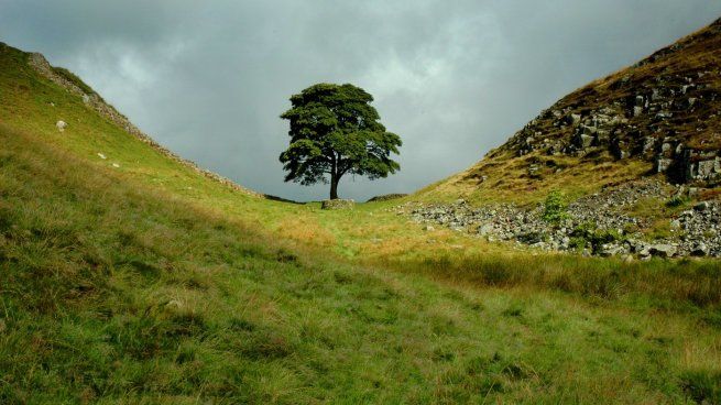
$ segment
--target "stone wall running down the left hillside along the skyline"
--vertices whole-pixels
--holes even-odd
[[[84,90],[78,83],[75,83],[70,79],[68,79],[66,76],[58,74],[58,72],[51,66],[51,64],[45,59],[45,57],[40,54],[40,53],[31,53],[29,54],[28,57],[28,63],[30,66],[32,66],[39,74],[47,78],[48,80],[53,81],[54,84],[58,85],[59,87],[64,88],[68,92],[78,96],[83,102],[88,106],[89,108],[94,109],[96,112],[98,112],[101,117],[106,118],[110,122],[114,123],[119,128],[123,129],[125,132],[130,133],[131,135],[138,138],[139,140],[148,143],[151,145],[153,149],[155,149],[157,152],[163,154],[164,156],[167,156],[172,158],[175,162],[178,162],[187,167],[190,167],[195,172],[211,178],[218,183],[221,183],[232,189],[236,189],[238,191],[242,191],[244,194],[249,194],[252,196],[258,196],[261,197],[260,194],[251,191],[247,188],[243,188],[232,180],[222,177],[218,175],[217,173],[212,173],[210,171],[207,171],[205,168],[198,167],[194,162],[187,161],[185,158],[182,158],[174,154],[173,152],[168,151],[157,142],[153,141],[149,135],[143,133],[140,129],[138,129],[135,125],[133,125],[130,120],[118,112],[118,110],[114,109],[114,107],[108,105],[98,94],[95,91],[88,92],[88,89]],[[87,86],[86,86],[87,87]],[[58,129],[63,131],[65,127],[61,129],[59,122],[58,122]]]

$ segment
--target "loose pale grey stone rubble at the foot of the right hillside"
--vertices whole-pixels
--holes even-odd
[[[627,211],[647,198],[668,199],[687,193],[685,187],[666,190],[659,182],[624,185],[589,195],[568,206],[568,218],[551,225],[544,207],[522,208],[512,204],[471,207],[465,200],[450,205],[396,207],[425,229],[440,225],[489,241],[515,241],[546,251],[576,251],[585,255],[721,256],[721,202],[702,201],[669,218],[671,237],[647,240],[640,230],[649,223]]]

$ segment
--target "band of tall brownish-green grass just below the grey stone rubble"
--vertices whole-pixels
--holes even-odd
[[[679,309],[721,306],[721,263],[712,260],[626,263],[567,254],[496,253],[375,263],[479,286],[535,287],[602,299],[642,298],[652,306]]]

